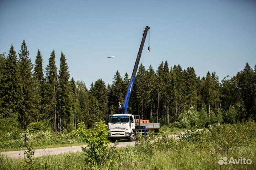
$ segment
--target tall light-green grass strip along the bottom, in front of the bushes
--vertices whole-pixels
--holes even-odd
[[[184,147],[179,151],[154,151],[153,154],[138,154],[136,146],[129,146],[119,149],[119,159],[113,164],[111,169],[141,169],[141,170],[171,170],[171,169],[191,169],[191,170],[212,170],[212,169],[256,169],[256,146],[233,147],[227,152],[202,151],[195,146]],[[250,165],[219,165],[221,157],[251,158]],[[90,169],[85,163],[85,153],[67,153],[63,155],[53,155],[35,158],[34,169]],[[22,170],[24,160],[8,159],[0,156],[0,169]],[[103,168],[102,168],[103,169]],[[105,167],[105,169],[107,169]]]

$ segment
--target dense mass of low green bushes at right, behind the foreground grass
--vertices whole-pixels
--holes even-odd
[[[180,142],[193,143],[198,148],[214,148],[216,151],[227,151],[232,147],[247,146],[256,142],[256,124],[252,121],[238,124],[210,125],[204,131],[186,131],[179,135]]]

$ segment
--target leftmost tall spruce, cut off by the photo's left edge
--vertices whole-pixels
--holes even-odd
[[[11,118],[18,115],[21,120],[20,104],[21,104],[21,87],[20,76],[17,65],[17,55],[14,46],[11,45],[9,54],[5,60],[5,66],[2,70],[2,78],[0,83],[0,104],[1,117]]]

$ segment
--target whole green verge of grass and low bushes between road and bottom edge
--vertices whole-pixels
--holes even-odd
[[[256,124],[216,125],[205,131],[192,131],[179,140],[162,134],[139,137],[134,146],[116,149],[102,164],[88,164],[86,152],[67,153],[28,160],[0,156],[0,169],[256,169]],[[108,154],[108,152],[106,152]],[[250,165],[219,165],[221,158],[251,159]],[[27,162],[25,162],[27,161]]]

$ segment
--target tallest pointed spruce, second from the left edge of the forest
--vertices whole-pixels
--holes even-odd
[[[39,110],[36,108],[36,101],[34,100],[34,81],[32,78],[33,64],[29,58],[29,51],[27,50],[27,45],[25,40],[23,40],[21,45],[21,50],[18,53],[18,69],[21,76],[21,117],[23,128],[34,121],[34,118],[39,114]]]

